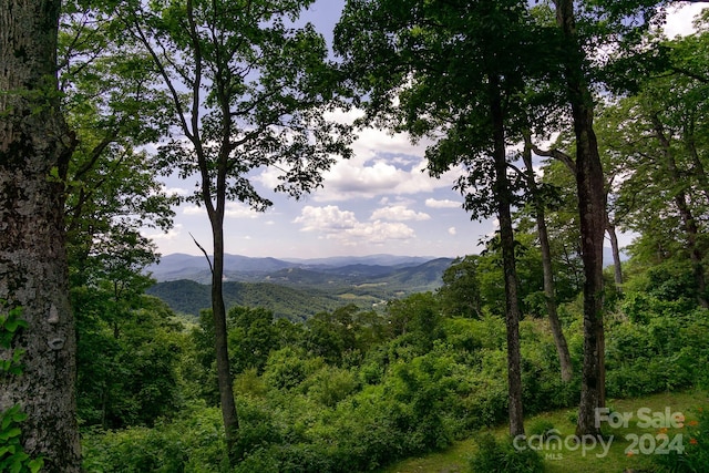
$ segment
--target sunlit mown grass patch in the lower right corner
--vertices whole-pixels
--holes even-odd
[[[666,409],[669,408],[670,414],[680,413],[685,415],[685,423],[690,423],[698,408],[709,407],[709,393],[699,390],[662,393],[638,399],[608,400],[607,405],[613,419],[617,420],[618,423],[621,423],[618,415],[623,413],[626,413],[626,417],[628,414],[631,415],[626,422],[627,426],[619,425],[612,429],[607,422],[602,423],[602,430],[606,435],[606,444],[609,443],[607,454],[603,454],[604,449],[600,444],[592,448],[590,442],[587,442],[585,452],[583,448],[576,450],[563,448],[561,451],[543,450],[541,453],[545,457],[544,466],[547,473],[618,473],[627,469],[638,471],[650,469],[651,455],[643,454],[640,448],[647,452],[653,446],[659,448],[660,443],[662,443],[662,438],[658,439],[657,435],[666,434],[671,441],[676,435],[680,435],[684,432],[684,429],[679,426],[669,425],[666,431],[661,426],[656,426],[660,422],[671,420],[671,418],[667,419],[665,417]],[[640,409],[646,411],[639,411]],[[661,413],[661,415],[654,415],[655,413]],[[532,417],[525,421],[525,428],[528,431],[531,425],[540,424],[542,421],[544,421],[544,424],[554,425],[562,439],[573,435],[576,426],[575,411],[562,410]],[[643,428],[645,423],[650,425]],[[504,438],[507,433],[506,425],[501,425],[490,431],[497,438]],[[614,436],[613,441],[610,441],[609,435]],[[635,445],[635,449],[638,450],[637,454],[628,454],[626,451],[635,443],[635,435],[637,435],[638,440],[643,438],[644,444]],[[684,445],[687,445],[689,439],[685,436],[682,441]],[[455,442],[450,449],[442,452],[395,463],[380,470],[380,473],[466,473],[470,471],[467,460],[476,449],[477,444],[474,439],[466,439]]]

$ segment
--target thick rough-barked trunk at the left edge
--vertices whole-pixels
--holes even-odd
[[[74,144],[59,110],[60,7],[0,0],[0,311],[21,307],[29,323],[13,346],[25,351],[24,372],[2,377],[0,409],[20,404],[28,414],[21,441],[44,455],[42,471],[71,473],[81,470],[76,340],[59,178]]]

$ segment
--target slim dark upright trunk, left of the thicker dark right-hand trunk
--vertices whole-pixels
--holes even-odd
[[[522,368],[520,352],[520,301],[518,279],[514,257],[514,230],[510,210],[512,195],[507,179],[507,160],[505,153],[504,117],[500,96],[500,79],[490,76],[491,114],[493,121],[495,162],[495,197],[497,198],[497,218],[500,220],[500,244],[505,277],[505,304],[507,329],[507,401],[510,409],[510,435],[524,434],[524,413],[522,409]]]

